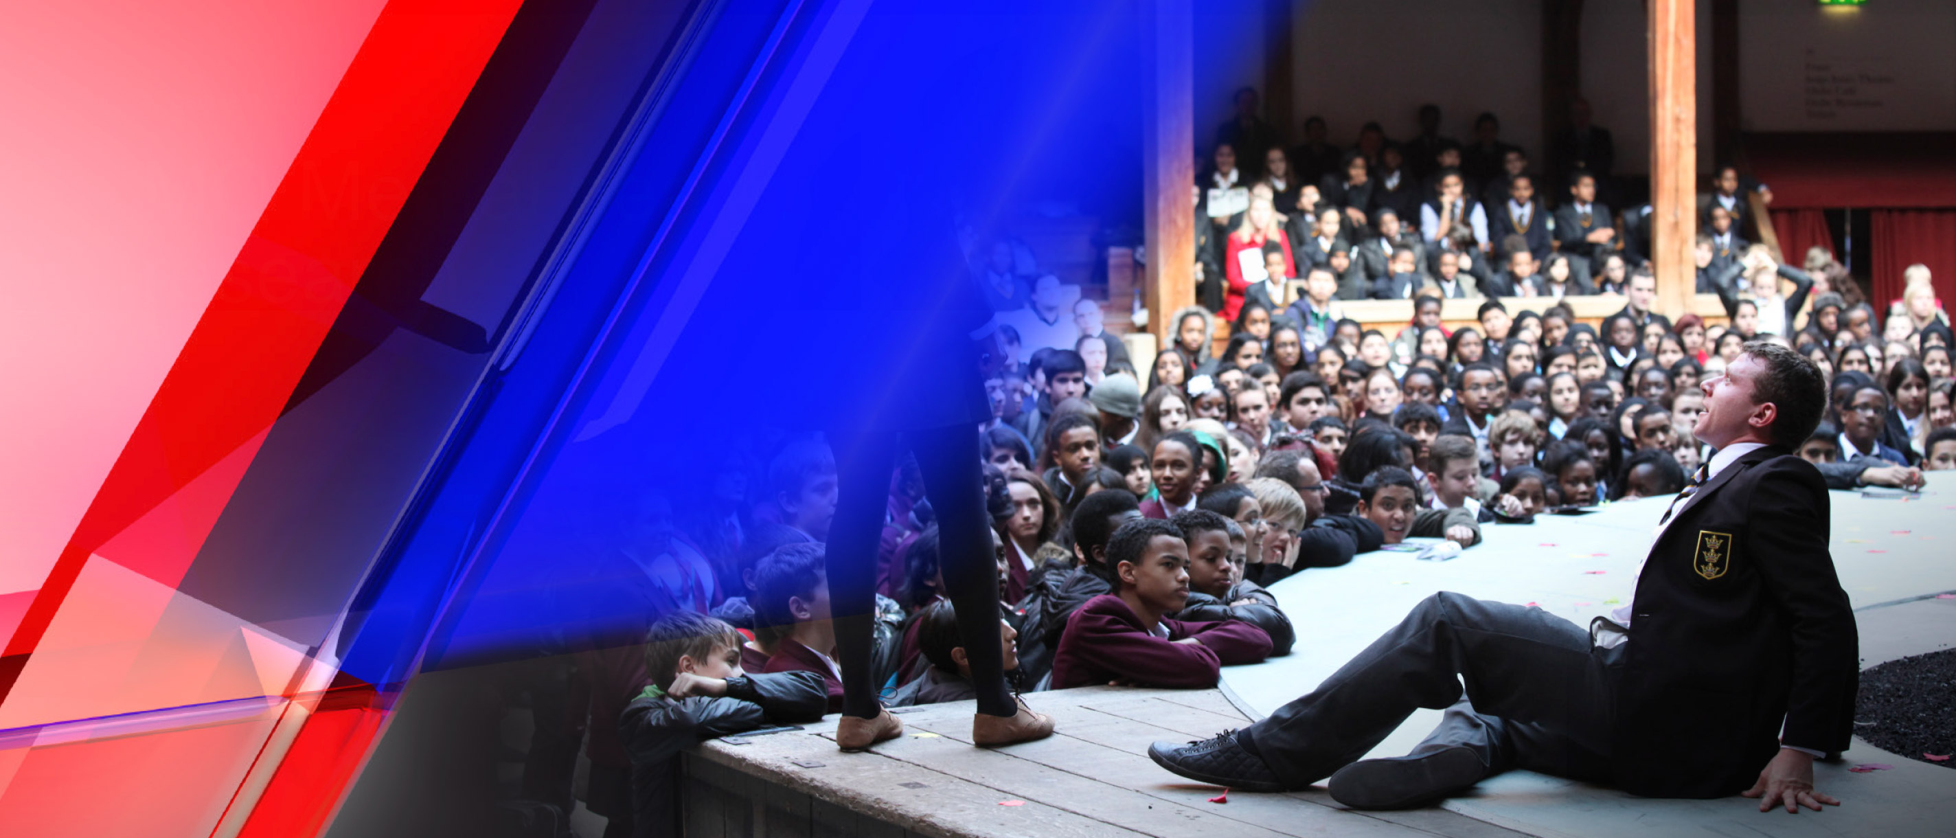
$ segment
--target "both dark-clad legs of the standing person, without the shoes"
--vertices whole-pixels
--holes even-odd
[[[958,634],[978,687],[978,713],[1017,713],[1005,687],[1000,646],[998,558],[984,505],[978,431],[953,425],[896,433],[843,431],[831,435],[839,476],[835,521],[829,525],[829,605],[835,615],[837,664],[843,670],[843,713],[874,719],[878,711],[870,668],[876,609],[876,544],[890,501],[896,454],[910,448],[923,472],[923,493],[937,513],[939,570],[958,613]]]

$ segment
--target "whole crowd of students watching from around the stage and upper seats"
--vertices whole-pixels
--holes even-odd
[[[1414,149],[1432,159],[1410,161]],[[1620,227],[1584,166],[1551,221],[1512,147],[1467,176],[1457,159],[1473,149],[1369,131],[1326,188],[1293,178],[1275,143],[1254,176],[1230,151],[1219,145],[1205,178],[1250,182],[1248,206],[1199,237],[1222,294],[1172,313],[1174,339],[1144,370],[1101,305],[1039,274],[1023,247],[970,247],[1005,352],[986,382],[992,419],[974,429],[1005,621],[998,636],[960,634],[915,464],[898,468],[874,556],[886,705],[970,699],[974,642],[1001,646],[1021,691],[1211,687],[1221,666],[1297,642],[1267,591],[1281,578],[1408,536],[1471,548],[1489,525],[1672,495],[1710,458],[1692,437],[1700,384],[1747,341],[1784,343],[1827,372],[1829,417],[1800,452],[1831,488],[1913,489],[1923,470],[1956,468],[1956,341],[1927,270],[1911,268],[1903,300],[1878,311],[1831,258],[1774,262],[1731,233],[1745,202],[1729,170],[1708,196],[1698,256],[1700,290],[1727,302],[1731,325],[1708,325],[1651,309],[1655,278],[1604,235]],[[1494,192],[1504,210],[1471,198]],[[1598,329],[1561,302],[1571,294],[1625,305]],[[1387,335],[1342,317],[1338,302],[1363,296],[1412,298],[1412,321]],[[1442,300],[1463,296],[1487,302],[1475,325],[1449,329]],[[1510,311],[1502,296],[1541,305]],[[712,593],[653,627],[644,675],[620,697],[628,766],[593,769],[593,787],[610,771],[620,789],[604,815],[624,830],[677,816],[679,746],[841,703],[823,570],[835,464],[820,437],[759,456],[765,491],[673,523],[690,556],[673,574]]]

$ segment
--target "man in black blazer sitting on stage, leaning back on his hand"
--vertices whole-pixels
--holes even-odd
[[[1719,450],[1665,511],[1629,607],[1584,632],[1436,593],[1269,719],[1148,756],[1244,791],[1330,777],[1354,809],[1430,805],[1512,768],[1649,797],[1743,791],[1760,811],[1839,805],[1813,789],[1813,760],[1848,746],[1858,640],[1827,486],[1794,456],[1825,384],[1801,354],[1749,343],[1702,390],[1696,435]],[[1416,707],[1447,709],[1426,742],[1354,762]]]

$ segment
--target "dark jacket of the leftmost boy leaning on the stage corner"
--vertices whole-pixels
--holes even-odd
[[[726,697],[640,695],[624,705],[618,736],[632,758],[632,834],[677,836],[681,748],[769,724],[822,721],[827,695],[812,672],[730,677]]]

